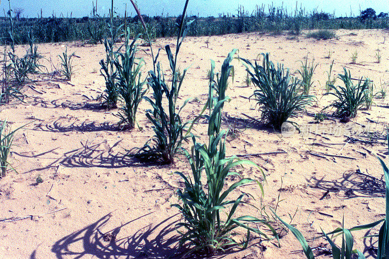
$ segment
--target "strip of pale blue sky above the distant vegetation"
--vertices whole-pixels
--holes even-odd
[[[93,0],[96,2],[96,0]],[[57,17],[61,13],[66,17],[72,12],[72,17],[84,17],[90,15],[92,10],[92,0],[10,0],[11,8],[22,8],[22,17],[37,17],[42,8],[43,17],[49,17],[56,14]],[[175,16],[182,12],[185,0],[137,0],[138,6],[142,14],[155,16],[169,13],[169,16]],[[289,0],[190,0],[188,6],[189,15],[199,15],[200,17],[215,16],[221,13],[236,14],[236,9],[239,5],[243,5],[245,10],[251,13],[255,9],[255,5],[265,4],[265,11],[268,10],[268,4],[273,2],[274,6],[287,8],[288,12],[296,7],[296,1]],[[359,15],[359,10],[373,8],[377,14],[380,12],[388,13],[389,6],[386,1],[372,0],[302,0],[298,1],[298,6],[305,7],[305,10],[312,11],[317,9],[319,12],[327,12],[339,16],[350,16],[350,10],[353,15]],[[115,10],[120,14],[124,14],[125,3],[127,10],[132,16],[135,16],[135,11],[132,8],[131,2],[126,0],[114,0]],[[103,16],[107,15],[110,8],[111,0],[98,0],[98,13]],[[0,8],[8,11],[8,0],[2,0]],[[3,15],[1,15],[3,16]]]

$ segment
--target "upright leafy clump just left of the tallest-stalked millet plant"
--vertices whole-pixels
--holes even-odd
[[[128,29],[127,29],[128,30]],[[136,37],[129,44],[129,36],[125,35],[125,50],[124,53],[118,53],[118,60],[115,61],[117,70],[117,91],[124,101],[124,105],[120,108],[119,125],[127,124],[129,128],[135,127],[136,113],[138,105],[141,103],[143,95],[147,89],[143,89],[145,81],[141,81],[141,67],[144,64],[143,59],[135,58],[137,52]]]

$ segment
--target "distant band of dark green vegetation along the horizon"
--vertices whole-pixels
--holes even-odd
[[[266,9],[266,10],[265,10]],[[367,12],[369,11],[369,12]],[[16,44],[28,42],[28,33],[32,31],[35,42],[61,42],[83,40],[87,43],[102,42],[104,35],[108,34],[110,24],[109,17],[38,17],[21,18],[11,14],[14,20],[14,40]],[[19,14],[20,15],[20,14]],[[0,17],[0,43],[10,42],[10,20],[7,17]],[[142,16],[147,33],[151,38],[170,37],[177,35],[176,23],[178,17]],[[273,32],[280,33],[288,31],[292,34],[300,34],[301,30],[323,30],[315,38],[330,38],[331,31],[336,29],[385,29],[389,28],[389,17],[387,14],[375,15],[371,8],[361,11],[358,17],[333,17],[330,14],[317,11],[307,12],[305,9],[296,8],[289,12],[285,7],[269,5],[258,6],[253,12],[245,11],[243,6],[237,10],[237,14],[220,15],[220,17],[187,17],[185,20],[194,20],[191,28],[188,29],[189,36],[210,36],[224,35],[242,32]],[[144,28],[138,17],[127,17],[130,35],[135,37],[144,34]],[[115,17],[113,25],[119,27],[124,24],[124,17]],[[184,23],[186,24],[186,23]],[[325,29],[325,30],[324,30]],[[324,35],[324,36],[323,36]]]

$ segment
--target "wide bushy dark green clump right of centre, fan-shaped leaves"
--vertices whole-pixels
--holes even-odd
[[[262,112],[262,121],[276,129],[280,129],[283,122],[297,116],[299,111],[310,105],[314,96],[299,93],[299,82],[291,79],[289,70],[278,64],[277,68],[269,61],[268,53],[264,56],[263,65],[242,59],[246,64],[246,71],[251,76],[255,100]],[[253,71],[252,71],[252,70]]]

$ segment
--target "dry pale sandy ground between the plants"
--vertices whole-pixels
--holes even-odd
[[[347,138],[343,136],[348,128],[360,125],[382,131],[389,118],[386,99],[374,99],[371,110],[359,111],[355,119],[345,124],[338,120],[312,123],[312,114],[332,100],[323,94],[325,71],[333,59],[333,75],[343,72],[345,67],[354,78],[369,77],[377,90],[380,82],[389,82],[388,31],[338,30],[336,36],[325,41],[258,33],[188,37],[178,58],[181,70],[189,67],[180,102],[193,99],[183,111],[184,120],[194,119],[207,100],[205,77],[210,59],[215,61],[216,71],[220,71],[233,48],[239,49],[240,57],[250,60],[261,52],[269,52],[273,62],[283,63],[295,76],[301,65],[299,60],[307,54],[315,58],[319,65],[311,93],[318,101],[307,113],[293,120],[309,125],[316,135],[285,138],[250,119],[260,116],[255,102],[247,98],[255,87],[243,87],[246,71],[238,60],[232,63],[235,78],[226,93],[231,102],[224,112],[230,127],[236,129],[236,135],[227,138],[227,155],[275,152],[248,156],[265,170],[267,183],[264,183],[262,204],[275,207],[280,195],[278,215],[289,222],[288,213],[293,215],[297,210],[293,223],[312,246],[327,250],[330,247],[324,239],[312,241],[321,233],[320,227],[325,231],[335,229],[341,225],[343,215],[346,227],[383,217],[385,184],[377,155],[388,157],[382,143],[346,143]],[[175,49],[175,43],[174,38],[162,38],[154,47],[157,50],[171,44]],[[98,98],[105,89],[99,71],[99,61],[105,58],[104,45],[40,44],[38,51],[45,57],[42,64],[49,72],[54,70],[53,66],[59,66],[58,55],[65,47],[68,53],[75,52],[78,56],[74,58],[76,71],[69,83],[35,75],[23,88],[27,95],[25,103],[13,101],[0,106],[0,119],[12,122],[13,128],[28,123],[17,132],[10,156],[18,173],[9,171],[0,180],[0,258],[167,258],[177,251],[179,240],[174,226],[180,217],[171,204],[177,202],[175,190],[182,187],[182,182],[173,173],[190,172],[186,158],[178,155],[175,164],[163,166],[142,164],[126,156],[126,150],[141,147],[153,136],[145,117],[146,109],[151,107],[141,103],[138,114],[141,129],[118,129],[115,123],[119,119],[113,115],[117,110],[99,108]],[[147,63],[146,72],[151,68],[150,49],[140,48],[143,51],[139,55]],[[17,47],[19,53],[26,49],[27,46]],[[382,54],[381,63],[376,63],[374,57],[377,49]],[[358,64],[350,64],[355,51]],[[326,58],[328,52],[332,52],[331,58]],[[168,74],[165,52],[160,52],[159,59]],[[224,124],[225,128],[228,123]],[[195,126],[195,134],[203,141],[206,127],[204,121]],[[190,143],[185,147],[189,148]],[[234,170],[242,177],[263,180],[255,168],[245,166]],[[44,181],[35,185],[38,175]],[[255,200],[247,201],[261,206],[257,186],[241,187],[233,195],[237,196],[240,191],[251,193]],[[251,207],[239,207],[238,214],[244,213],[260,216]],[[116,238],[103,237],[103,234],[116,235]],[[355,248],[364,251],[367,258],[374,258],[376,250],[372,246],[377,245],[376,240],[358,239],[365,234],[366,231],[355,232]],[[336,240],[339,242],[339,238]],[[301,252],[293,253],[301,246],[291,232],[280,243],[278,247],[274,240],[253,239],[246,250],[234,250],[216,258],[303,258]]]

